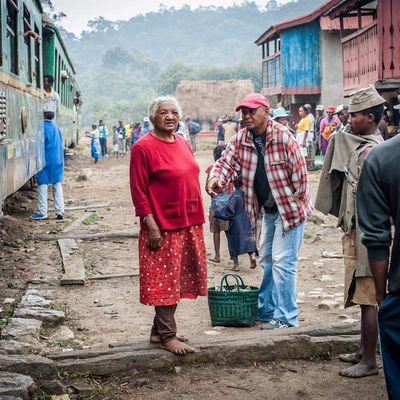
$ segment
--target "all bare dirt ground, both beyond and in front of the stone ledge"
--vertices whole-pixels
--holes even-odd
[[[86,143],[87,145],[87,143]],[[205,170],[212,163],[212,151],[196,155],[201,167],[201,185],[205,184]],[[93,164],[87,148],[67,161],[64,193],[66,206],[110,203],[99,208],[73,233],[99,233],[111,230],[137,229],[131,203],[128,177],[128,157],[106,158]],[[78,179],[82,173],[87,180]],[[310,184],[315,194],[319,172],[310,173]],[[205,209],[210,204],[204,193]],[[151,307],[138,302],[138,278],[118,278],[91,281],[85,286],[60,286],[63,273],[56,242],[26,240],[34,234],[60,232],[84,211],[67,211],[66,221],[29,221],[35,210],[36,192],[27,189],[8,202],[9,218],[0,222],[0,305],[3,299],[17,300],[30,279],[43,279],[35,285],[40,289],[55,289],[55,303],[67,310],[65,324],[75,334],[68,343],[54,346],[46,342],[51,332],[43,332],[42,341],[47,351],[68,348],[107,346],[115,341],[146,340],[153,317]],[[208,256],[213,254],[212,235],[205,227]],[[341,233],[335,220],[318,213],[306,225],[298,268],[298,302],[301,326],[324,326],[332,323],[349,324],[359,320],[356,307],[343,310],[343,266],[340,258],[325,258],[322,252],[341,253]],[[87,276],[92,274],[138,272],[136,239],[117,239],[79,242]],[[222,237],[222,259],[219,264],[209,262],[209,286],[219,284],[229,272],[227,243]],[[246,284],[258,285],[262,270],[250,270],[247,256],[240,258],[240,275]],[[334,300],[338,306],[318,308],[323,299]],[[0,322],[6,323],[12,306],[0,307]],[[235,328],[213,329],[210,324],[207,299],[182,301],[177,312],[181,334],[198,339],[210,335],[231,337]],[[1,325],[0,325],[1,328]],[[259,327],[242,328],[257,330]],[[268,334],[261,332],[261,334]],[[93,399],[214,399],[225,395],[231,399],[381,399],[385,398],[383,373],[379,377],[362,380],[338,378],[343,367],[338,361],[291,361],[220,369],[218,366],[184,367],[182,370],[161,374],[130,374],[97,381]]]

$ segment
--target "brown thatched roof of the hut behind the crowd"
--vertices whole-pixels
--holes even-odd
[[[224,114],[235,115],[236,106],[252,92],[251,80],[182,81],[176,88],[176,98],[184,115],[215,121]]]

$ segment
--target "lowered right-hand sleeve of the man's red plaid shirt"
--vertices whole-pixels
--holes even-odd
[[[293,136],[287,144],[288,168],[294,189],[294,197],[300,201],[308,201],[307,166],[301,155],[300,147]]]

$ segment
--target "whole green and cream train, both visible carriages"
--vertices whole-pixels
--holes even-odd
[[[78,140],[80,93],[64,43],[39,0],[0,0],[0,37],[1,216],[4,199],[44,166],[43,74],[55,77],[65,146]]]

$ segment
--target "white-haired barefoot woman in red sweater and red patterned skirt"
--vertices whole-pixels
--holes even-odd
[[[149,114],[154,129],[132,147],[130,162],[131,194],[141,222],[140,302],[155,307],[150,341],[183,355],[194,349],[177,337],[177,304],[207,295],[200,169],[188,143],[174,133],[179,103],[159,97]]]

